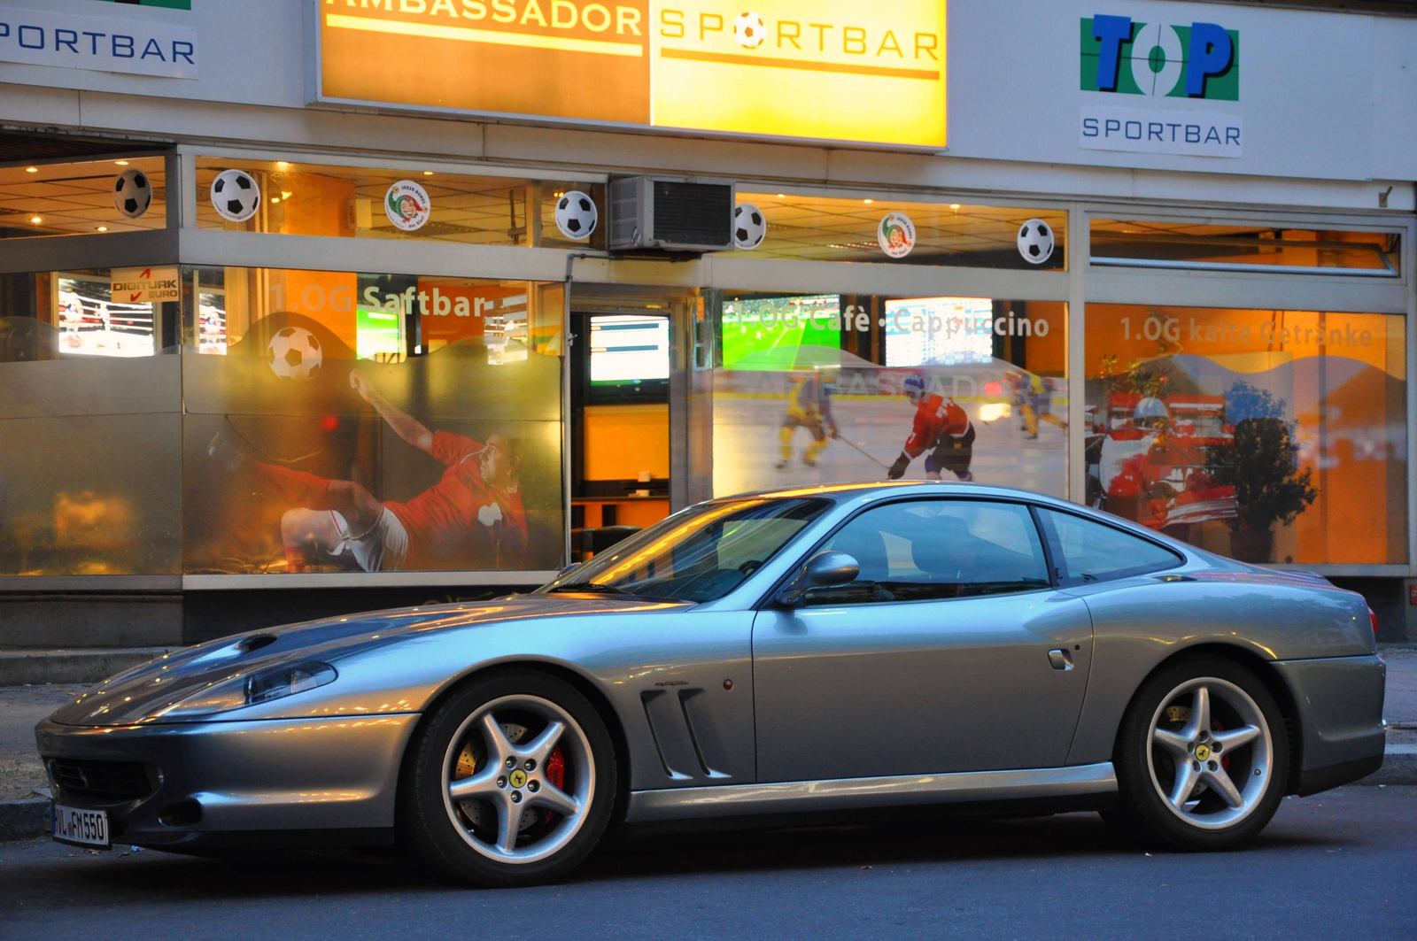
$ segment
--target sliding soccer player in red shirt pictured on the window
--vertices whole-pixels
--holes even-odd
[[[524,567],[527,517],[516,441],[489,435],[478,442],[429,431],[359,370],[350,371],[350,385],[394,434],[446,469],[407,503],[381,502],[353,480],[255,461],[217,435],[208,448],[213,459],[228,470],[248,468],[262,488],[292,506],[281,517],[288,571],[302,571],[319,553],[350,553],[364,571]]]

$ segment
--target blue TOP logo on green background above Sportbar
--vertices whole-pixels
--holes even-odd
[[[1080,78],[1088,92],[1240,101],[1240,33],[1214,23],[1084,17]]]

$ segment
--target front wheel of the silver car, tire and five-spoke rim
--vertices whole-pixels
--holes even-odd
[[[417,734],[401,836],[455,879],[553,881],[605,832],[615,775],[609,731],[580,692],[531,670],[495,673],[438,706]]]

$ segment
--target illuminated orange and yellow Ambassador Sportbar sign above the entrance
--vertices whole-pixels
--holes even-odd
[[[317,3],[317,101],[945,145],[947,0]]]

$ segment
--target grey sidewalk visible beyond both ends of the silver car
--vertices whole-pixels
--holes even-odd
[[[1384,648],[1387,760],[1365,784],[1417,784],[1417,648]],[[34,748],[34,724],[78,696],[86,683],[0,686],[0,840],[48,828],[48,781]]]

